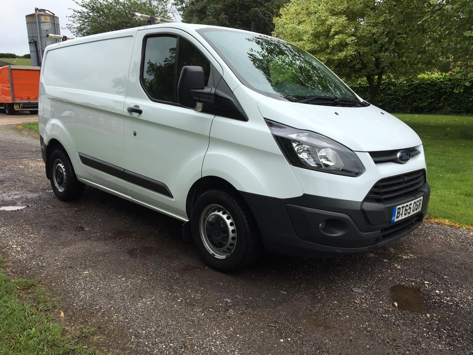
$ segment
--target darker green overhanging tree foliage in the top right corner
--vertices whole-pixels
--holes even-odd
[[[452,63],[453,75],[463,86],[473,73],[473,4],[471,0],[434,0],[422,23],[432,37],[430,49]]]

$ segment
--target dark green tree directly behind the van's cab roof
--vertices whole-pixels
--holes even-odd
[[[272,19],[289,0],[175,0],[183,22],[272,33]],[[268,24],[261,14],[271,23]]]

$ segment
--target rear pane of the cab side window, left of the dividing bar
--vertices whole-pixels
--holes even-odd
[[[175,102],[175,55],[177,37],[148,37],[144,52],[142,80],[151,98]]]

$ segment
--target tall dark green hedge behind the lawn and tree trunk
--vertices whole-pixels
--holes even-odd
[[[449,74],[385,80],[379,91],[378,106],[399,113],[473,113],[473,78],[471,83],[462,92],[455,92],[461,84]],[[366,80],[351,88],[362,98],[369,98]]]

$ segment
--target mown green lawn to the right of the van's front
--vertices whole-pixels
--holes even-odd
[[[432,189],[428,217],[473,226],[473,115],[395,116],[424,144]]]

